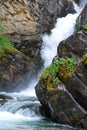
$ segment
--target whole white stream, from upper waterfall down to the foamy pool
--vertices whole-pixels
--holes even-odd
[[[76,14],[68,14],[66,17],[57,19],[55,28],[51,34],[43,36],[41,50],[44,67],[52,62],[56,55],[58,43],[74,32],[76,18],[87,0],[82,0],[80,7],[74,3]],[[49,62],[48,62],[49,61]],[[37,77],[37,76],[35,76]],[[39,76],[38,76],[39,77]],[[33,79],[29,83],[29,88],[19,93],[1,92],[6,96],[6,100],[0,100],[0,130],[72,130],[74,128],[59,125],[45,119],[40,114],[40,102],[38,101],[34,87],[38,79]]]

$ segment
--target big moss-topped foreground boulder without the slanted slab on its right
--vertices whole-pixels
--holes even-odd
[[[36,94],[45,115],[53,121],[77,126],[85,116],[84,109],[67,91],[66,85],[77,69],[75,57],[65,57],[47,67],[36,85]]]

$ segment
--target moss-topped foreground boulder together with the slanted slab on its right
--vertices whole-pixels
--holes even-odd
[[[87,122],[82,120],[87,113],[87,68],[83,59],[79,65],[75,57],[55,61],[43,71],[35,89],[45,116],[85,128]]]

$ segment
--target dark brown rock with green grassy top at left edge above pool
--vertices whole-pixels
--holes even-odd
[[[14,48],[5,36],[0,35],[0,91],[10,91],[23,83],[30,66],[31,58]]]

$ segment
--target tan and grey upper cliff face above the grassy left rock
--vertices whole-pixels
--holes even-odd
[[[68,0],[5,0],[2,8],[12,43],[33,59],[40,56],[41,34],[53,27],[57,17],[74,12]]]

